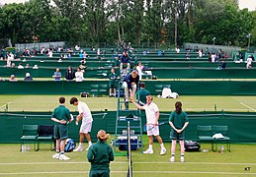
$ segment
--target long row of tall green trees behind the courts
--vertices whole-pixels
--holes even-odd
[[[256,11],[237,0],[30,0],[0,7],[13,43],[182,42],[256,45]],[[250,34],[250,35],[249,35]]]

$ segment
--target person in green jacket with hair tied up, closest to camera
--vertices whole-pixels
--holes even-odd
[[[88,150],[87,159],[91,163],[90,177],[110,176],[110,161],[114,160],[114,152],[106,143],[109,137],[104,130],[100,130],[97,134],[98,142]]]

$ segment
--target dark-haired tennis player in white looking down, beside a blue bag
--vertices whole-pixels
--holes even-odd
[[[83,150],[84,137],[86,137],[89,144],[88,148],[86,148],[86,150],[88,150],[92,146],[91,136],[89,134],[89,132],[91,132],[93,122],[91,110],[85,102],[78,101],[76,97],[72,97],[70,99],[70,104],[77,106],[79,112],[79,115],[76,117],[76,124],[78,125],[78,122],[82,120],[82,124],[79,131],[79,146],[75,148],[73,151]]]

